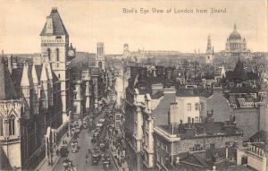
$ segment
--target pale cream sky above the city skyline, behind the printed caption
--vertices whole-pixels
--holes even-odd
[[[234,22],[250,50],[267,52],[268,47],[266,0],[0,0],[0,4],[0,48],[9,54],[40,52],[39,34],[52,7],[57,7],[77,51],[95,53],[101,41],[105,54],[121,54],[125,43],[131,51],[193,53],[200,49],[204,53],[211,35],[218,52],[225,48]],[[123,8],[137,13],[123,13]],[[149,13],[141,13],[141,8]],[[164,13],[153,13],[153,8]],[[226,9],[226,13],[210,13],[211,8]],[[208,13],[197,13],[197,9]],[[193,13],[175,13],[178,10]]]

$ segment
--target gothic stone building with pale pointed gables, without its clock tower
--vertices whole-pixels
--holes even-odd
[[[4,59],[0,67],[1,146],[11,167],[32,169],[45,158],[46,129],[63,124],[60,81],[46,63],[26,62],[13,74]]]

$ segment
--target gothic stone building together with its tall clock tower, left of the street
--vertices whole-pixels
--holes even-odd
[[[49,147],[68,128],[69,62],[75,49],[69,47],[69,35],[56,8],[46,17],[40,36],[41,55],[34,61],[43,64],[25,62],[23,67],[13,67],[16,60],[11,57],[7,64],[3,59],[0,64],[0,141],[9,168],[37,167],[53,153]],[[54,141],[49,140],[52,133]]]

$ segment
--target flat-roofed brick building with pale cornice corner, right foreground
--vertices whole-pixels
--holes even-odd
[[[242,137],[242,130],[231,122],[216,123],[207,120],[204,123],[179,124],[175,127],[171,124],[159,125],[154,128],[155,166],[159,170],[175,170],[180,158],[188,154],[225,148],[227,144],[241,147]],[[193,167],[195,166],[191,166]]]

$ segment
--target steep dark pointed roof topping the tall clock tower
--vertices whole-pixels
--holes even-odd
[[[56,36],[56,35],[65,35],[69,36],[67,30],[64,27],[63,21],[60,14],[56,8],[52,8],[51,13],[48,17],[53,19],[53,34],[46,33],[46,24],[40,34],[40,36]]]

